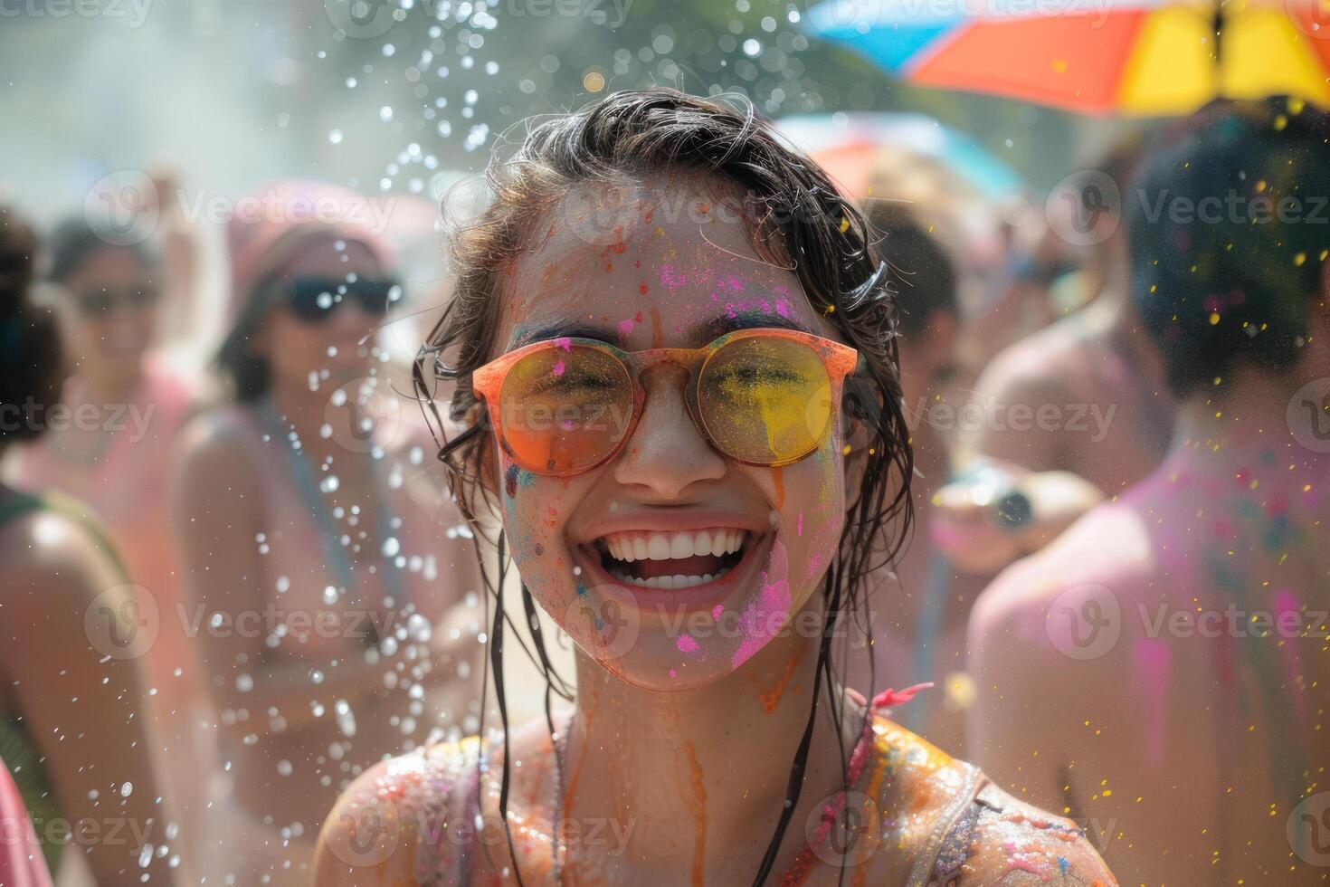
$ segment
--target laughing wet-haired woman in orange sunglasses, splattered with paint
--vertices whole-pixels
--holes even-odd
[[[577,693],[363,774],[317,883],[1113,883],[886,719],[908,692],[837,677],[891,604],[863,589],[911,453],[884,265],[826,174],[746,106],[648,90],[535,126],[489,184],[418,382],[456,383],[442,457]]]

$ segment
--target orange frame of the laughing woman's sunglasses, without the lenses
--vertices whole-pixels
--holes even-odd
[[[811,332],[802,332],[799,330],[787,330],[783,327],[753,327],[747,330],[735,330],[733,332],[726,332],[721,335],[701,348],[648,348],[645,351],[624,351],[616,348],[608,342],[601,342],[600,339],[581,339],[576,336],[563,336],[557,339],[545,339],[541,342],[533,342],[531,344],[523,346],[515,351],[509,351],[499,358],[495,358],[489,363],[479,367],[471,374],[471,388],[472,394],[483,402],[485,414],[489,418],[489,423],[495,430],[495,436],[499,444],[503,447],[504,452],[521,468],[531,471],[537,475],[544,475],[549,477],[571,477],[573,475],[581,475],[588,471],[593,471],[606,461],[612,460],[624,448],[624,444],[633,436],[637,430],[637,423],[642,416],[642,406],[646,403],[646,390],[642,387],[641,376],[644,372],[652,367],[657,367],[662,363],[673,363],[674,366],[682,367],[688,371],[689,379],[685,387],[685,402],[688,403],[688,411],[693,419],[694,427],[706,440],[708,445],[716,452],[721,453],[726,459],[733,459],[741,464],[758,465],[762,468],[781,468],[783,465],[794,464],[805,457],[807,457],[813,451],[821,444],[821,438],[809,449],[801,452],[797,456],[789,459],[782,459],[779,461],[753,461],[749,459],[741,459],[733,456],[720,447],[716,436],[706,427],[706,422],[702,419],[701,410],[697,403],[698,386],[701,383],[702,375],[706,371],[706,364],[716,356],[725,346],[738,342],[742,339],[787,339],[790,342],[798,342],[810,347],[821,359],[822,366],[826,368],[827,380],[831,384],[831,414],[827,420],[829,426],[831,420],[835,419],[839,411],[841,394],[843,391],[845,379],[859,363],[858,350],[841,344],[839,342],[833,342],[831,339],[825,339],[819,335]],[[620,435],[614,445],[597,461],[587,465],[585,468],[577,468],[576,471],[552,471],[544,465],[531,465],[527,464],[512,447],[508,444],[507,435],[504,434],[504,423],[500,407],[500,395],[503,394],[504,382],[508,378],[508,371],[512,370],[523,358],[548,350],[551,347],[561,348],[564,351],[572,351],[573,346],[584,346],[596,348],[597,351],[605,352],[613,356],[626,371],[629,380],[633,386],[633,412]],[[823,435],[826,432],[823,431]]]

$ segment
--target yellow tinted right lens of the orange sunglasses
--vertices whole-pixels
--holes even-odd
[[[697,406],[726,455],[758,464],[793,461],[826,435],[831,380],[818,352],[801,342],[735,339],[702,367]]]

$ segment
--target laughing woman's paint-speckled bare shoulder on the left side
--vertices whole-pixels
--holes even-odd
[[[323,823],[315,887],[451,883],[471,846],[479,763],[468,737],[360,774]]]

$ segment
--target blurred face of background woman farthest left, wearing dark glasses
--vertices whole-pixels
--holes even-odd
[[[108,245],[64,279],[60,324],[85,372],[118,375],[142,360],[157,334],[161,282],[154,278],[134,250]]]

